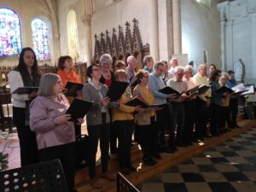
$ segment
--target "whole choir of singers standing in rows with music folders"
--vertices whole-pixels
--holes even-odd
[[[126,62],[127,65],[117,61],[112,69],[111,55],[102,55],[99,64],[87,68],[89,81],[76,92],[76,97],[93,102],[86,114],[90,148],[87,164],[90,184],[96,189],[103,187],[96,177],[98,141],[101,177],[114,180],[115,175],[108,172],[109,152],[117,154],[121,172],[137,172],[131,164],[132,140],[142,148],[143,163],[154,166],[161,159],[161,153],[173,154],[177,147],[187,147],[205,137],[218,137],[239,127],[236,123],[238,96],[218,91],[223,86],[236,85],[233,71],[225,73],[213,64],[209,67],[199,64],[194,75],[192,66],[181,67],[175,58],[169,63],[154,62],[150,55],[143,58],[143,69],[138,71],[135,56],[128,56]],[[9,73],[12,92],[24,86],[39,87],[29,94],[12,95],[21,166],[59,159],[69,191],[75,191],[75,141],[81,134],[84,119],[73,122],[66,113],[74,99],[65,96],[67,82],[81,84],[70,56],[59,58],[57,74],[41,76],[31,48],[22,49],[18,66]],[[129,83],[117,101],[107,96],[114,82]],[[210,85],[210,89],[198,91],[203,85]],[[166,87],[176,92],[161,91]],[[128,105],[134,98],[147,107]]]

